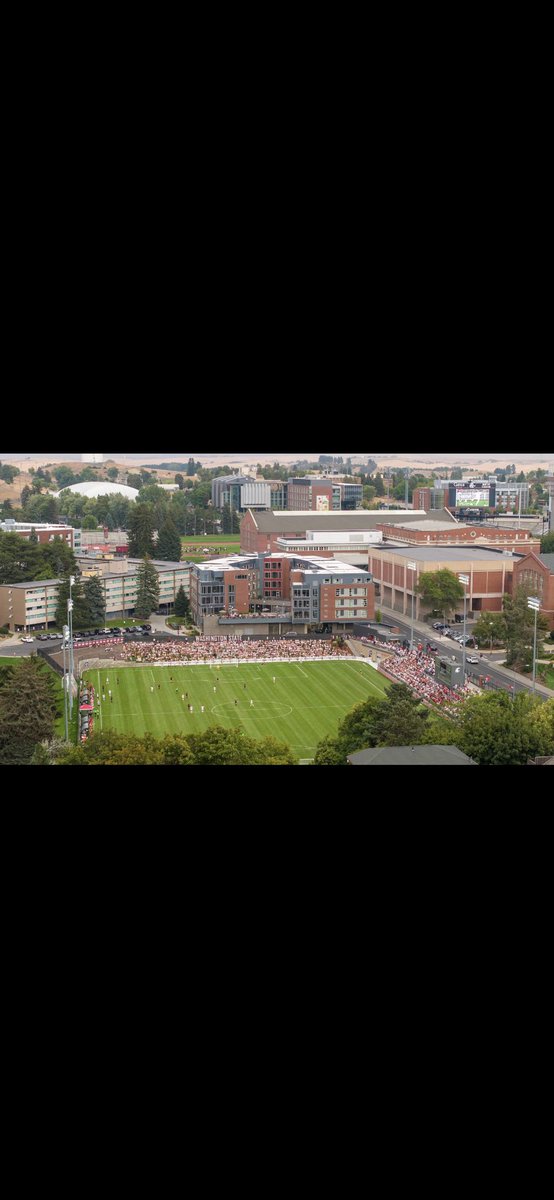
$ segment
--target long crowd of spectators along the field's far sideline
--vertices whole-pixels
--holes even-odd
[[[247,641],[241,637],[197,637],[193,642],[150,642],[128,644],[121,650],[124,662],[219,662],[235,659],[321,659],[349,658],[347,646],[332,642],[293,641],[287,637],[265,637]]]

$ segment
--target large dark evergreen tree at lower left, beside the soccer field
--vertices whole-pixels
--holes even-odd
[[[36,658],[20,659],[0,691],[0,763],[26,763],[52,738],[59,704],[55,677]]]

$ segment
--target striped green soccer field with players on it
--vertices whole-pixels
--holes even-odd
[[[337,733],[338,722],[354,704],[368,696],[381,698],[387,689],[373,667],[347,659],[237,667],[210,667],[207,662],[119,671],[110,667],[85,671],[85,678],[100,697],[96,730],[164,737],[203,733],[212,725],[223,725],[236,728],[237,736],[241,731],[253,738],[271,733],[278,742],[287,742],[297,758],[313,758],[318,742],[327,733]],[[187,704],[192,704],[192,713]]]

